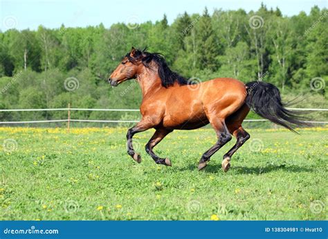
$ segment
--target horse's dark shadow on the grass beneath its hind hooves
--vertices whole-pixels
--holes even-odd
[[[183,168],[179,168],[181,171],[185,170],[197,170],[197,165],[190,164]],[[229,170],[236,175],[261,175],[263,173],[268,173],[277,170],[284,170],[285,172],[312,172],[313,169],[309,167],[300,167],[300,166],[286,166],[285,164],[281,165],[267,165],[267,166],[257,166],[257,167],[247,167],[247,166],[232,166]],[[206,168],[202,170],[203,172],[221,172],[221,164],[208,164]]]

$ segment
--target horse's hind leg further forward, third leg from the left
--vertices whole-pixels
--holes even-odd
[[[209,150],[207,150],[203,156],[201,157],[201,160],[199,161],[198,169],[201,170],[206,167],[207,161],[210,161],[210,157],[217,152],[223,145],[228,143],[232,136],[230,135],[228,128],[226,127],[226,123],[224,122],[224,119],[219,118],[210,118],[210,123],[212,127],[215,129],[215,132],[217,132],[217,143],[213,145]]]

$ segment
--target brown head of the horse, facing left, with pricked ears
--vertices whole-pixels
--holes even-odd
[[[122,62],[120,62],[118,67],[111,73],[111,76],[109,76],[108,82],[111,86],[116,87],[125,80],[135,78],[142,57],[143,53],[132,47],[131,51],[125,55]]]

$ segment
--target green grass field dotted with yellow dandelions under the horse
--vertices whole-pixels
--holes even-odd
[[[221,171],[235,139],[199,172],[213,130],[177,131],[155,152],[136,134],[143,161],[126,153],[122,128],[0,127],[0,220],[325,220],[328,127],[249,130]]]

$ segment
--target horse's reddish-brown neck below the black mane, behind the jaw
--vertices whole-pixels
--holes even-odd
[[[143,97],[152,92],[155,94],[158,89],[162,88],[161,78],[158,76],[156,69],[143,69],[138,74],[137,81],[143,91]]]

